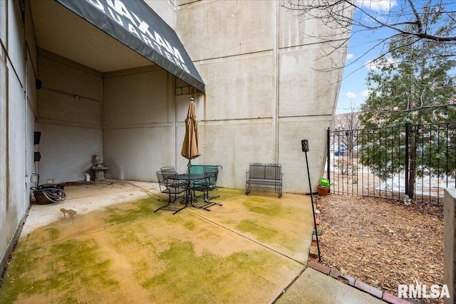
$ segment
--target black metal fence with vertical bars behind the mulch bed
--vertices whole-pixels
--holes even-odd
[[[329,130],[331,192],[440,204],[456,187],[456,122]]]

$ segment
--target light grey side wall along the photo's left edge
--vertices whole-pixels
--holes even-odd
[[[27,19],[29,11],[26,11]],[[33,129],[36,56],[31,28],[24,28],[18,1],[0,1],[0,269],[19,234],[29,206],[34,170]],[[34,61],[34,62],[33,62]]]

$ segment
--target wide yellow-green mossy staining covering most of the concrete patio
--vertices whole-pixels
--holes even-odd
[[[226,206],[234,205],[234,214],[203,213],[215,223],[229,223],[222,230],[187,211],[154,213],[165,204],[155,199],[116,204],[74,221],[58,219],[33,231],[33,244],[19,243],[1,285],[0,303],[108,303],[115,296],[111,303],[119,303],[124,295],[136,294],[131,288],[150,298],[149,303],[267,303],[283,288],[279,277],[301,265],[261,246],[246,246],[244,238],[237,248],[238,237],[224,233],[238,230],[274,248],[294,248],[296,239],[281,227],[301,223],[295,215],[299,210],[238,190],[223,192],[217,201],[222,198]],[[225,205],[219,208],[224,211]],[[81,229],[84,225],[89,228]],[[97,237],[103,241],[91,239]],[[128,279],[122,271],[128,271]]]

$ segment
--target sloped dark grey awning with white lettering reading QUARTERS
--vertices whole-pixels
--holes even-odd
[[[144,1],[56,1],[204,93],[204,82],[179,37]]]

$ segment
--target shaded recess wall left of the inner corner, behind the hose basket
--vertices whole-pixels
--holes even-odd
[[[40,184],[82,181],[95,154],[103,152],[102,74],[48,51],[39,53]]]

